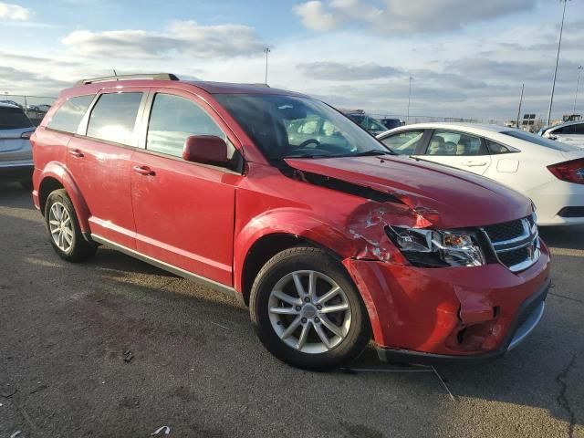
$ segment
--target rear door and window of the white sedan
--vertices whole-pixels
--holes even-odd
[[[480,136],[456,130],[433,130],[420,158],[482,175],[491,165],[491,155]]]

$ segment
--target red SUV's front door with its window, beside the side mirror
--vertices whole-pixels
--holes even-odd
[[[183,161],[187,137],[216,135],[230,145],[227,129],[213,110],[187,92],[154,90],[148,108],[142,148],[134,152],[130,172],[137,249],[231,286],[235,186],[242,176]]]

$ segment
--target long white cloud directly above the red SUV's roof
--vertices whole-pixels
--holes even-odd
[[[172,22],[164,32],[145,30],[76,30],[63,44],[92,57],[149,58],[236,57],[261,53],[264,43],[254,28],[241,25],[200,26],[194,21]]]

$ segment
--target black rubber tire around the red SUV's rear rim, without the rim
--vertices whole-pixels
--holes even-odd
[[[59,248],[53,239],[53,236],[51,235],[49,214],[54,203],[60,203],[64,205],[71,220],[73,235],[70,247],[67,251]],[[56,190],[48,195],[47,203],[45,204],[45,225],[47,227],[47,234],[53,249],[63,260],[67,260],[68,262],[73,263],[84,262],[95,254],[97,245],[88,242],[83,237],[81,228],[79,227],[77,214],[75,214],[75,208],[73,208],[73,203],[71,203],[71,200],[69,199],[68,194],[64,189]]]

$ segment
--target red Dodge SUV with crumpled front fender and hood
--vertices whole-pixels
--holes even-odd
[[[173,75],[84,80],[33,138],[55,251],[98,245],[235,294],[277,358],[487,359],[537,326],[527,198],[394,155],[318,99]]]

